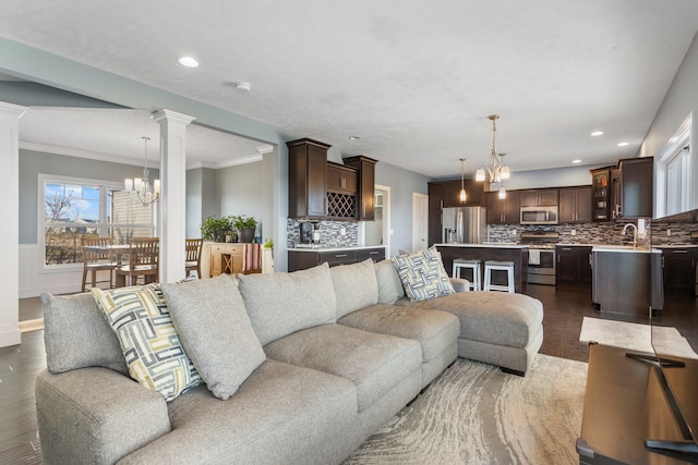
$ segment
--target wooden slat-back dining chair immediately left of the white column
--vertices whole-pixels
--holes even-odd
[[[129,246],[129,262],[116,269],[117,287],[159,281],[159,237],[134,237]]]

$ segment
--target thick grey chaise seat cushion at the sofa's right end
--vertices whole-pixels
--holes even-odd
[[[460,320],[460,338],[513,347],[528,346],[543,325],[543,304],[525,294],[472,291],[397,304],[448,311]]]

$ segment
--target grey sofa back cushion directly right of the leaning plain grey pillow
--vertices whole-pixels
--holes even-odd
[[[336,320],[329,266],[292,273],[240,274],[238,285],[262,345]]]

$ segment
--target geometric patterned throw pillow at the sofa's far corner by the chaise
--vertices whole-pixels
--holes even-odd
[[[393,264],[400,276],[405,293],[412,302],[455,292],[441,261],[441,254],[434,247],[393,257]]]

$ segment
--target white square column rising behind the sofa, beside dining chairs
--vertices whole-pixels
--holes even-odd
[[[160,282],[173,282],[185,277],[186,126],[194,118],[160,110],[153,119],[160,125]]]

